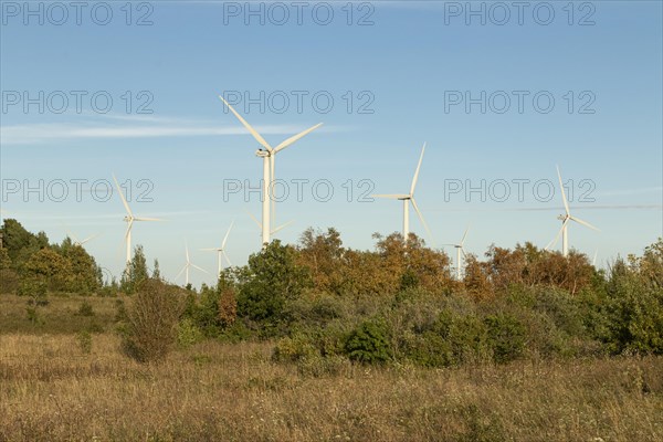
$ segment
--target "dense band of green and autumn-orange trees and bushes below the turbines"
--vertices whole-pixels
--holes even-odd
[[[493,245],[483,260],[469,256],[456,281],[449,256],[414,234],[407,243],[376,235],[373,251],[357,251],[334,229],[307,230],[297,245],[274,241],[196,291],[164,281],[158,263],[148,272],[140,248],[122,281],[104,284],[94,259],[71,240],[49,244],[15,220],[2,233],[0,288],[25,296],[25,323],[48,330],[42,312],[52,296],[116,297],[113,328],[138,360],[208,338],[271,339],[275,361],[313,375],[348,360],[450,367],[663,354],[662,239],[608,271],[577,252]],[[82,305],[76,314],[91,312]],[[81,332],[105,328],[88,323]]]

